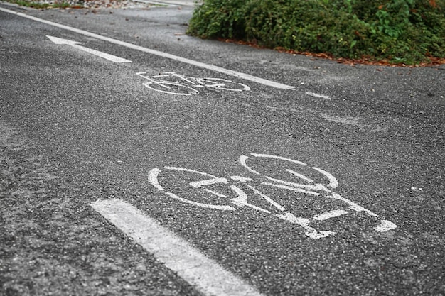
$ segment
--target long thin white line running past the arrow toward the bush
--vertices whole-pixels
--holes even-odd
[[[176,60],[178,62],[184,62],[184,63],[189,64],[189,65],[193,65],[193,66],[196,66],[196,67],[201,67],[201,68],[212,70],[212,71],[215,71],[215,72],[220,72],[220,73],[223,73],[225,75],[235,76],[235,77],[242,78],[244,80],[249,80],[249,81],[252,81],[252,82],[259,83],[259,84],[264,84],[264,85],[267,85],[269,87],[275,87],[277,89],[294,89],[295,88],[295,87],[292,87],[290,85],[286,85],[286,84],[282,84],[282,83],[278,83],[278,82],[273,82],[271,80],[265,80],[263,78],[256,77],[256,76],[253,76],[253,75],[248,75],[248,74],[245,74],[245,73],[242,73],[242,72],[228,70],[228,69],[225,69],[223,67],[218,67],[218,66],[214,66],[214,65],[208,65],[208,64],[205,64],[203,62],[198,62],[198,61],[195,61],[195,60],[189,60],[189,59],[187,59],[185,57],[178,57],[177,55],[171,55],[170,53],[163,53],[163,52],[161,52],[159,50],[152,50],[152,49],[149,49],[149,48],[144,48],[142,46],[134,45],[132,43],[127,43],[127,42],[124,42],[124,41],[121,41],[121,40],[105,37],[105,36],[102,36],[102,35],[99,35],[99,34],[95,34],[95,33],[91,33],[91,32],[88,32],[88,31],[84,31],[84,30],[81,30],[81,29],[78,29],[78,28],[65,26],[65,25],[62,25],[60,23],[54,23],[53,21],[46,21],[46,20],[44,20],[42,18],[36,18],[35,16],[28,16],[28,15],[26,15],[24,13],[11,11],[9,9],[4,9],[4,8],[0,7],[0,11],[6,12],[6,13],[12,13],[12,14],[14,14],[16,16],[21,16],[23,18],[28,18],[28,19],[31,19],[33,21],[38,21],[40,23],[45,23],[45,24],[50,25],[50,26],[55,26],[57,28],[62,28],[64,30],[72,31],[72,32],[75,32],[75,33],[78,33],[78,34],[82,34],[82,35],[86,35],[86,36],[89,36],[89,37],[92,37],[92,38],[96,38],[96,39],[99,39],[99,40],[104,40],[104,41],[107,41],[109,43],[125,46],[127,48],[132,48],[134,50],[139,50],[139,51],[141,51],[143,53],[149,53],[151,55],[158,55],[160,57],[166,57],[166,58],[171,59],[171,60]]]

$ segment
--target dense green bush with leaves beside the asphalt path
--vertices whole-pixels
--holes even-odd
[[[445,57],[445,0],[204,0],[188,33],[334,57]]]

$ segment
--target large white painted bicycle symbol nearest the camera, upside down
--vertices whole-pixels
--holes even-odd
[[[260,161],[261,160],[261,161]],[[206,172],[200,172],[198,170],[191,170],[188,168],[177,168],[177,167],[165,167],[168,171],[176,171],[176,172],[183,172],[183,173],[193,173],[195,175],[204,176],[198,180],[193,182],[188,182],[188,185],[191,186],[191,188],[200,189],[203,190],[206,196],[213,196],[213,203],[207,203],[208,197],[206,197],[205,202],[202,201],[196,201],[191,200],[185,197],[181,197],[176,193],[173,192],[167,192],[164,187],[159,183],[159,175],[161,173],[161,170],[159,168],[153,168],[149,172],[149,182],[151,185],[156,187],[156,189],[161,190],[164,194],[168,195],[168,197],[172,197],[173,199],[178,199],[181,202],[184,202],[186,204],[191,204],[195,207],[203,207],[207,209],[215,209],[220,211],[235,211],[237,207],[250,207],[254,210],[257,210],[259,212],[263,212],[264,214],[272,214],[273,216],[283,219],[285,221],[288,221],[292,224],[298,224],[301,226],[306,236],[309,236],[311,239],[321,239],[325,238],[327,236],[333,236],[336,234],[335,231],[318,231],[313,226],[311,226],[312,221],[324,221],[327,219],[335,218],[338,216],[343,216],[345,214],[348,214],[349,212],[360,212],[364,213],[368,216],[375,217],[380,220],[380,224],[378,226],[375,226],[375,231],[389,231],[391,229],[397,228],[397,226],[392,223],[391,221],[380,219],[379,215],[371,212],[369,209],[365,209],[364,207],[361,207],[358,204],[355,204],[355,202],[350,201],[349,199],[346,199],[345,197],[342,197],[340,194],[337,194],[336,192],[333,192],[336,187],[338,187],[338,181],[336,180],[333,175],[331,175],[329,172],[326,172],[325,170],[321,170],[316,167],[308,167],[306,163],[302,163],[298,160],[291,160],[289,158],[283,158],[276,155],[268,155],[268,154],[256,154],[251,153],[250,156],[247,155],[241,155],[240,156],[240,164],[247,169],[252,175],[255,176],[262,176],[264,177],[264,181],[260,181],[259,185],[264,185],[266,187],[274,187],[279,188],[280,190],[289,190],[291,192],[299,192],[301,194],[304,194],[304,196],[312,196],[316,197],[318,199],[324,199],[324,200],[331,200],[331,201],[337,201],[340,204],[343,205],[342,209],[330,209],[327,212],[323,212],[321,214],[316,214],[310,217],[301,217],[301,216],[294,216],[291,212],[287,211],[281,204],[271,199],[269,196],[264,194],[263,192],[259,191],[257,188],[251,185],[252,182],[254,182],[254,179],[250,177],[242,177],[242,176],[231,176],[230,180],[237,182],[235,184],[230,184],[230,181],[228,178],[225,177],[217,177],[215,175],[210,175]],[[275,175],[280,176],[287,176],[287,177],[281,177],[281,179],[278,179],[274,172],[268,171],[266,173],[259,172],[260,170],[267,170],[266,165],[264,165],[264,161],[269,161],[269,163],[275,162],[275,163],[285,163],[286,168],[281,168],[281,170],[275,171]],[[309,177],[308,175],[303,175],[299,172],[296,172],[296,170],[291,169],[299,167],[301,169],[305,169],[306,171],[311,170],[313,172],[313,175],[318,175],[323,177],[324,180],[326,180],[326,184],[316,183],[313,181],[312,177]],[[282,180],[289,178],[290,180]],[[215,186],[219,185],[219,186]],[[223,185],[223,187],[221,187]],[[218,187],[218,191],[215,191],[215,187]],[[248,188],[251,192],[257,195],[257,197],[260,197],[259,200],[262,200],[263,203],[268,204],[272,209],[264,209],[264,207],[259,207],[258,204],[252,204],[248,200],[247,193],[245,190],[242,190],[242,188]],[[184,190],[181,190],[184,192]],[[228,195],[234,194],[235,197],[230,198]],[[199,197],[202,197],[203,194],[191,194],[193,195],[193,199],[200,199]],[[190,198],[190,197],[189,197]],[[202,198],[201,198],[202,199]],[[219,200],[218,202],[215,202],[216,200]],[[227,202],[230,202],[230,204],[227,204]],[[346,206],[346,207],[345,207]],[[272,213],[272,212],[275,212]]]

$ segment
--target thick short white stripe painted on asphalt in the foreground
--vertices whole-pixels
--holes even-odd
[[[110,199],[90,205],[203,295],[262,295],[131,204]]]

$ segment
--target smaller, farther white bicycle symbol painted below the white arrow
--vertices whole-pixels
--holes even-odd
[[[148,76],[146,72],[139,72],[136,75],[145,78],[148,82],[144,86],[156,92],[165,94],[177,94],[181,96],[193,96],[199,94],[198,89],[211,88],[231,92],[249,91],[246,84],[225,80],[222,78],[197,78],[186,77],[175,72],[165,72],[160,75]]]

